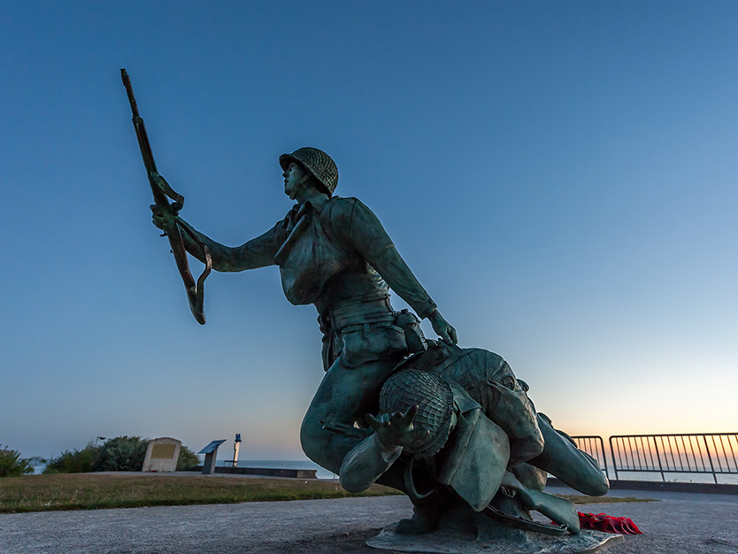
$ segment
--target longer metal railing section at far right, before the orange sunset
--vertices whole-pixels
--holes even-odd
[[[738,474],[738,433],[685,435],[613,435],[610,451],[615,479],[619,472],[705,473],[718,482]]]

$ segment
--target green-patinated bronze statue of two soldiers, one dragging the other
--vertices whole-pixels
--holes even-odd
[[[135,125],[136,117],[135,111]],[[146,160],[143,146],[142,152]],[[189,225],[179,215],[181,201],[158,200],[151,206],[153,221],[206,268],[278,266],[288,301],[316,307],[326,375],[304,416],[303,450],[338,473],[345,489],[380,482],[404,491],[414,505],[412,518],[385,530],[373,545],[388,544],[390,535],[394,545],[386,547],[396,550],[403,550],[396,538],[402,536],[425,537],[408,543],[446,545],[439,548],[471,536],[476,546],[469,548],[507,544],[520,552],[601,545],[580,533],[573,504],[543,492],[546,473],[552,473],[584,494],[605,494],[608,481],[596,460],[536,412],[527,383],[503,358],[457,346],[456,329],[380,220],[357,198],[335,194],[338,169],[326,152],[304,147],[279,162],[284,193],[295,205],[240,246],[225,246]],[[155,196],[171,190],[146,165]],[[389,289],[415,313],[396,312]],[[195,304],[196,318],[201,308]],[[419,319],[430,321],[436,340],[422,335]]]

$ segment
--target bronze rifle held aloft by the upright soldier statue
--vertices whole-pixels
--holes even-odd
[[[131,87],[131,80],[125,69],[120,70],[120,78],[123,80],[123,86],[126,87],[128,102],[131,104],[135,135],[138,139],[138,147],[141,149],[143,165],[146,167],[146,173],[149,176],[149,184],[151,185],[151,192],[154,195],[154,203],[159,207],[172,212],[174,216],[177,216],[177,213],[182,209],[182,205],[184,204],[184,196],[174,192],[172,187],[170,187],[164,178],[158,174],[157,164],[154,162],[154,154],[151,152],[149,135],[146,134],[146,127],[143,125],[143,119],[138,114],[138,106],[135,102],[134,89]],[[169,204],[167,197],[173,200],[172,204]],[[189,310],[192,312],[192,315],[195,316],[197,323],[204,325],[204,282],[205,278],[211,272],[212,260],[208,248],[200,242],[196,235],[194,235],[188,227],[181,228],[184,229],[190,238],[199,244],[204,251],[205,269],[197,279],[197,282],[192,277],[192,273],[189,273],[187,250],[185,249],[184,241],[182,240],[180,226],[175,222],[172,228],[166,229],[162,236],[169,238],[169,245],[172,247],[171,251],[174,255],[174,261],[177,263],[177,269],[180,271],[185,290],[187,291]]]

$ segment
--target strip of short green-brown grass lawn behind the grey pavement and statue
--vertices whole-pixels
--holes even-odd
[[[374,485],[354,495],[338,481],[263,479],[141,473],[57,473],[0,479],[0,512],[95,510],[186,504],[234,504],[346,496],[384,496],[395,489]],[[574,504],[634,502],[634,498],[566,496]]]

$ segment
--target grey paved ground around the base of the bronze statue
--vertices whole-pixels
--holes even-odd
[[[641,527],[643,535],[626,536],[608,554],[738,553],[738,496],[627,490],[611,496],[660,502],[579,506],[581,512],[629,517]],[[384,496],[0,514],[0,552],[378,554],[382,550],[365,546],[365,540],[410,513],[404,496]]]

